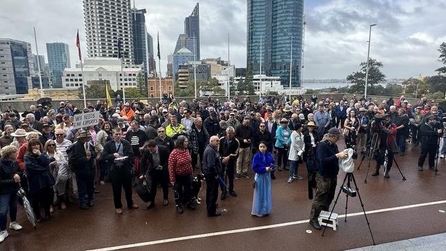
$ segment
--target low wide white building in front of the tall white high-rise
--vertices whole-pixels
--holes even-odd
[[[136,87],[138,74],[143,74],[142,65],[122,65],[122,78],[121,61],[118,58],[86,58],[83,67],[83,76],[80,65],[65,68],[62,76],[63,88],[77,89],[82,83],[89,85],[89,81],[109,80],[111,89],[116,91],[122,87]]]

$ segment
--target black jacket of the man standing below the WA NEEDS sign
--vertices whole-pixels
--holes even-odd
[[[96,173],[96,168],[94,165],[96,159],[96,152],[94,151],[94,146],[88,144],[89,151],[91,153],[90,160],[87,160],[87,153],[85,151],[84,144],[79,140],[73,146],[69,157],[69,163],[73,166],[74,173],[94,176]]]

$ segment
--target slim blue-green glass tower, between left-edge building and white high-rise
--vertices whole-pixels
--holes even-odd
[[[66,43],[47,43],[47,56],[53,87],[62,88],[63,70],[70,67],[68,45]]]

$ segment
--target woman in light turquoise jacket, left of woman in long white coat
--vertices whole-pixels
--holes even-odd
[[[288,170],[287,162],[288,162],[288,149],[289,144],[291,143],[291,129],[288,127],[288,120],[286,118],[282,118],[280,120],[280,127],[277,127],[276,130],[276,149],[277,153],[277,166],[278,170],[282,171],[282,163],[283,168]]]

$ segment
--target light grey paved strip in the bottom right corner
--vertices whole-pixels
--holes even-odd
[[[364,248],[355,248],[348,251],[368,251],[368,250],[405,250],[405,251],[424,251],[424,250],[446,250],[446,233],[432,234],[425,237],[406,239],[403,241],[393,241],[379,245],[369,245]]]

